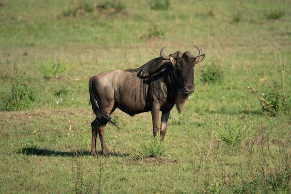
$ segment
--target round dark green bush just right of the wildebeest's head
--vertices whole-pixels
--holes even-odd
[[[223,79],[223,70],[219,63],[220,60],[218,58],[212,58],[210,64],[204,65],[200,74],[201,81],[204,83],[221,82]]]

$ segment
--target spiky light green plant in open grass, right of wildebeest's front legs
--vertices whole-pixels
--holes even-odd
[[[228,146],[237,146],[242,142],[245,127],[242,128],[240,124],[233,121],[232,125],[217,128],[217,132],[221,140]]]

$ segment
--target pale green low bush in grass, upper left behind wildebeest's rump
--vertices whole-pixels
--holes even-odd
[[[44,75],[44,79],[58,78],[61,73],[64,73],[70,64],[62,61],[47,61],[40,66],[40,70]]]

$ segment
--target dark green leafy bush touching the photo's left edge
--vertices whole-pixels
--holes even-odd
[[[4,95],[1,103],[1,111],[20,111],[29,107],[35,100],[35,90],[26,81],[16,79],[11,92]]]

